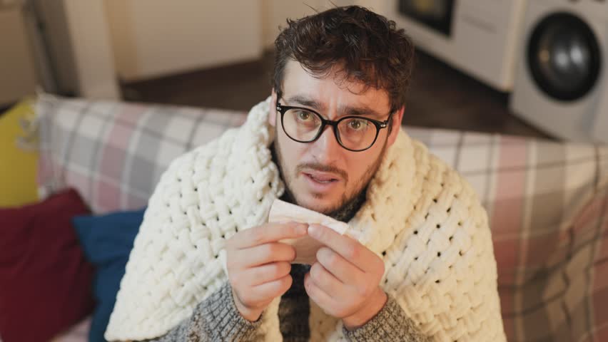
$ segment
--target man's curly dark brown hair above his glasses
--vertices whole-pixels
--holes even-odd
[[[344,6],[287,24],[275,40],[272,83],[277,93],[282,93],[285,65],[293,60],[315,77],[337,72],[343,80],[363,83],[363,92],[385,90],[391,113],[405,105],[414,45],[395,21],[361,6]]]

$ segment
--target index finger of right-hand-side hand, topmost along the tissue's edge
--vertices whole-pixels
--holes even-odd
[[[320,224],[310,224],[308,235],[330,247],[365,273],[373,271],[377,267],[375,259],[378,257],[372,251],[350,237],[338,234],[331,228]]]

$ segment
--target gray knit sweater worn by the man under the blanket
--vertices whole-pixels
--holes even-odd
[[[304,291],[304,274],[308,265],[294,264],[291,269],[293,285],[281,297],[279,305],[280,332],[283,341],[308,341],[308,295]],[[258,321],[247,321],[240,316],[233,301],[230,284],[198,304],[192,316],[182,321],[166,335],[148,341],[259,341]],[[395,299],[388,296],[384,308],[368,323],[353,331],[343,328],[349,341],[428,341],[417,331],[415,323]]]

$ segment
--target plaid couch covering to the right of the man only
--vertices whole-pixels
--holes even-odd
[[[487,209],[508,341],[608,341],[608,146],[406,130]]]

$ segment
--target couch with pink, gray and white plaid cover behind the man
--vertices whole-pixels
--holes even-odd
[[[37,151],[37,200],[71,188],[97,215],[145,207],[171,160],[246,118],[51,95],[39,96],[35,114],[21,142]],[[608,341],[608,147],[404,129],[464,175],[487,209],[509,341]],[[54,341],[86,340],[91,314]]]

